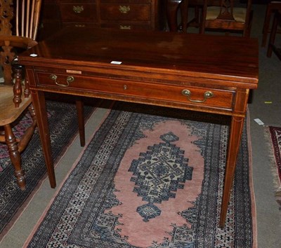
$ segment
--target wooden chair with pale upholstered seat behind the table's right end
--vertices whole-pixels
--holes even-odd
[[[230,32],[242,32],[245,37],[251,32],[251,0],[246,6],[240,6],[237,0],[204,0],[200,33],[205,29]]]

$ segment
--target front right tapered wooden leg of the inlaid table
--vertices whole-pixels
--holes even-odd
[[[228,157],[226,160],[226,174],[223,185],[223,198],[221,201],[221,219],[219,226],[224,227],[226,223],[226,213],[228,211],[228,202],[230,199],[230,191],[233,187],[233,179],[235,176],[235,167],[237,154],[240,148],[244,117],[232,116],[230,125],[230,136],[228,142]]]

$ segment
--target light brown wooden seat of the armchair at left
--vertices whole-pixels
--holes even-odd
[[[22,102],[20,103],[20,106],[18,108],[15,108],[13,97],[13,85],[0,86],[1,126],[13,123],[32,102],[31,97],[25,98],[25,96],[22,94]]]

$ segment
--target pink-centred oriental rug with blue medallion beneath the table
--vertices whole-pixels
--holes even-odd
[[[25,247],[256,247],[246,125],[221,229],[226,120],[143,109],[115,105]]]

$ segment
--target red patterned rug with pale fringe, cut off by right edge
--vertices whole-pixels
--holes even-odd
[[[272,170],[275,181],[275,195],[281,209],[281,128],[267,127],[268,147],[272,158]]]

